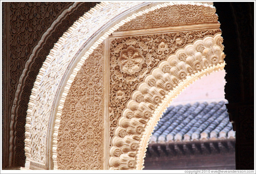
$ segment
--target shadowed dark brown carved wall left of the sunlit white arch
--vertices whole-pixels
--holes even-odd
[[[3,3],[3,168],[24,167],[26,110],[33,82],[63,32],[95,5],[96,2]]]

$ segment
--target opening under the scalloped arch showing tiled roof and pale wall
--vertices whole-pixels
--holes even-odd
[[[150,137],[146,170],[235,169],[224,76],[224,71],[207,74],[172,101]]]

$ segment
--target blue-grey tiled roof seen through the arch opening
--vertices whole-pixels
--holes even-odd
[[[170,106],[149,143],[235,138],[224,101]]]

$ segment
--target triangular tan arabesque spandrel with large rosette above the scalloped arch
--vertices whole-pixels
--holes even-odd
[[[110,38],[110,102],[109,102],[109,121],[110,121],[110,138],[112,139],[114,130],[117,126],[117,121],[121,117],[121,113],[126,106],[126,103],[131,99],[131,93],[137,89],[138,84],[143,81],[152,68],[156,67],[160,61],[174,53],[177,49],[183,48],[186,44],[194,42],[196,39],[207,35],[215,35],[220,30],[200,30],[194,32],[177,32],[144,36],[132,36],[125,38]],[[200,47],[201,46],[201,47]],[[119,49],[116,49],[119,48]],[[201,44],[197,44],[198,51],[204,49]],[[141,68],[133,68],[130,63],[127,67],[132,68],[131,72],[123,70],[123,65],[119,63],[124,52],[131,50],[131,55],[134,55],[134,50],[137,50],[138,61],[141,62]],[[189,52],[188,55],[193,54]],[[134,57],[134,56],[133,56]],[[171,60],[171,66],[175,67],[179,61],[185,61],[187,55],[183,52],[177,55],[177,59]],[[206,61],[206,60],[205,60]],[[133,62],[132,62],[133,63]],[[195,62],[198,63],[198,62]],[[198,67],[199,66],[199,67]],[[196,68],[201,69],[204,65],[197,64]],[[163,72],[169,72],[169,64],[164,65]],[[119,70],[120,69],[120,70]],[[191,69],[191,70],[190,70]],[[189,71],[192,71],[190,68]],[[198,69],[198,70],[199,70]],[[186,73],[179,72],[179,76],[186,77]],[[175,80],[175,82],[178,79]],[[155,79],[150,79],[149,84],[155,85]],[[167,86],[171,89],[171,86]],[[143,101],[144,94],[137,96],[136,101]],[[158,98],[155,98],[158,100]],[[125,133],[122,133],[125,134]],[[111,142],[111,141],[110,141]],[[110,146],[112,144],[110,143]]]

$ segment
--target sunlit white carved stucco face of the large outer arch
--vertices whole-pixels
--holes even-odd
[[[49,161],[47,162],[46,159],[46,147],[48,143],[47,140],[45,140],[48,138],[44,138],[42,143],[37,142],[39,138],[38,135],[42,135],[42,132],[44,135],[47,134],[48,128],[50,129],[50,134],[52,134],[51,126],[48,125],[49,119],[51,118],[50,115],[55,115],[55,113],[51,113],[50,111],[53,110],[52,108],[54,107],[53,101],[55,96],[58,97],[56,93],[60,93],[60,91],[58,88],[52,89],[49,81],[52,83],[60,83],[65,73],[69,72],[70,67],[73,66],[70,64],[72,64],[71,62],[73,62],[75,57],[79,56],[80,54],[84,55],[84,57],[81,58],[81,60],[84,61],[88,55],[90,55],[92,51],[119,26],[139,15],[147,13],[150,10],[152,11],[154,9],[160,8],[160,6],[153,7],[157,4],[158,3],[141,2],[100,3],[90,11],[86,12],[82,17],[80,17],[79,20],[77,20],[73,26],[71,26],[67,32],[63,34],[59,41],[54,45],[54,48],[50,50],[50,53],[47,56],[42,68],[40,69],[37,79],[34,83],[30,101],[28,103],[25,125],[26,168],[29,168],[30,164],[33,163],[34,166],[44,169],[46,168],[46,163],[49,163]],[[164,6],[168,6],[168,3],[164,3]],[[145,9],[145,11],[139,11],[143,9]],[[139,14],[134,12],[139,12]],[[127,17],[131,14],[132,16]],[[114,20],[116,20],[116,23],[112,23]],[[103,30],[108,31],[103,32]],[[84,50],[81,50],[82,48],[84,48]],[[58,84],[56,85],[58,86]],[[47,88],[47,90],[45,88]],[[42,95],[40,90],[41,92],[46,91],[45,94]],[[41,95],[44,96],[43,99],[40,98]],[[46,99],[46,101],[44,101],[44,99]],[[39,105],[43,107],[43,109],[37,108]],[[44,111],[42,112],[42,110]],[[38,111],[40,113],[38,113]],[[35,126],[35,123],[38,122],[38,120],[44,120],[44,122],[42,122],[42,125],[44,126],[40,127],[39,129]],[[51,139],[51,135],[49,137],[49,139]],[[31,141],[35,142],[32,143]],[[35,148],[36,145],[38,146]],[[41,149],[42,151],[38,149]],[[53,149],[55,149],[55,147],[53,147]],[[32,154],[32,152],[34,152],[35,155],[39,154],[39,157],[33,157],[34,154]],[[54,157],[55,156],[53,155],[53,159]]]

